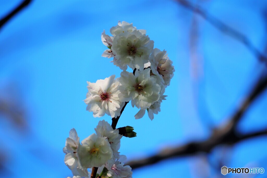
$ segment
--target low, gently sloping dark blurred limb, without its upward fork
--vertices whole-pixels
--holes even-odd
[[[189,156],[189,155],[193,155],[199,152],[208,153],[211,151],[212,148],[217,146],[218,143],[231,145],[241,140],[260,136],[260,135],[267,135],[267,130],[250,133],[250,134],[246,134],[243,136],[229,135],[229,137],[233,136],[231,137],[231,140],[227,140],[227,139],[215,140],[216,138],[213,138],[213,139],[209,139],[203,142],[189,143],[184,146],[177,147],[177,148],[164,149],[156,155],[153,155],[153,156],[150,156],[144,159],[140,159],[140,160],[133,160],[133,161],[126,163],[126,165],[129,165],[131,166],[132,169],[135,169],[135,168],[143,167],[146,165],[155,164],[159,161],[162,161],[162,160],[165,160],[171,157]]]

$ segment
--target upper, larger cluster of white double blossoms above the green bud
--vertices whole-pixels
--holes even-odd
[[[173,77],[175,70],[172,61],[165,50],[153,49],[154,41],[146,35],[146,30],[138,30],[132,23],[119,21],[117,26],[110,29],[110,33],[113,36],[105,34],[105,30],[101,35],[103,44],[108,48],[102,56],[113,57],[113,64],[123,72],[116,80],[115,76],[111,76],[101,80],[103,83],[100,80],[94,84],[88,82],[85,99],[87,110],[93,111],[95,117],[106,113],[116,118],[120,116],[124,102],[131,101],[133,107],[140,109],[135,115],[136,119],[142,118],[147,110],[152,120],[154,114],[160,112],[160,104],[166,97],[165,88],[170,85]],[[136,70],[135,73],[127,72],[127,66]],[[110,90],[116,94],[110,93]],[[102,93],[103,91],[105,92]],[[112,102],[109,103],[109,100]],[[109,106],[111,104],[114,106]],[[118,107],[113,110],[115,105]]]

